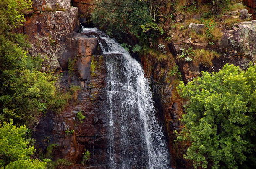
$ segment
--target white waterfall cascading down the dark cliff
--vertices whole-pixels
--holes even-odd
[[[141,65],[97,28],[83,32],[98,33],[103,53],[111,54],[106,62],[110,169],[169,169],[165,136]]]

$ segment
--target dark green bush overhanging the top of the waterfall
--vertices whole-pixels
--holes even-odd
[[[152,17],[145,1],[101,0],[96,3],[92,21],[109,35],[120,39],[123,34],[139,36],[141,25],[152,23]]]

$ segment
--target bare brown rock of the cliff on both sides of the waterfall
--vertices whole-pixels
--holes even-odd
[[[192,4],[192,1],[185,0],[184,6]],[[231,17],[239,18],[241,22],[230,27],[225,26],[224,23],[220,25],[223,28],[222,36],[214,45],[209,45],[199,37],[185,35],[180,31],[170,35],[173,40],[165,44],[166,50],[178,66],[184,83],[200,76],[201,71],[217,72],[226,63],[246,69],[251,62],[256,61],[256,20],[253,20],[256,2],[253,0],[244,0],[244,2],[248,5],[248,9],[231,11],[222,16],[222,21]],[[107,61],[109,58],[120,57],[120,53],[104,53],[102,50],[102,46],[104,47],[106,43],[104,39],[95,32],[82,31],[82,25],[86,27],[93,25],[90,20],[93,8],[93,0],[33,0],[33,9],[26,13],[26,22],[21,29],[17,30],[28,35],[29,43],[32,45],[29,53],[44,58],[42,71],[62,73],[61,88],[68,88],[71,85],[81,86],[81,91],[76,96],[76,103],[69,105],[60,114],[47,112],[33,129],[38,154],[47,153],[50,145],[56,144],[52,150],[52,159],[64,158],[73,162],[71,166],[62,166],[63,169],[112,169],[109,166],[110,103],[107,93],[109,87]],[[177,13],[173,17],[178,24],[188,20],[186,14]],[[205,25],[188,23],[187,27],[190,33],[201,34],[201,29]],[[210,65],[178,60],[177,58],[184,54],[183,49],[189,47],[201,51],[214,49],[220,53],[220,56],[212,58]],[[180,122],[184,114],[183,101],[177,96],[176,84],[173,83],[178,77],[172,76],[170,81],[166,81],[170,74],[167,61],[151,62],[151,70],[148,71],[149,65],[144,62],[143,57],[138,58],[136,54],[132,56],[141,63],[146,77],[150,79],[154,101],[152,104],[156,110],[157,121],[163,126],[162,132],[165,135],[163,138],[167,141],[170,153],[168,153],[170,166],[166,168],[191,168],[191,162],[183,158],[185,146],[174,141],[175,131],[180,131],[184,125]],[[72,68],[70,68],[71,61]],[[85,116],[82,123],[77,118],[78,112]],[[137,127],[133,131],[136,129]],[[133,137],[136,138],[136,136]],[[137,143],[133,139],[131,142]],[[121,143],[118,142],[118,144]],[[128,146],[131,148],[133,145]],[[85,151],[91,153],[86,165],[81,164]],[[115,155],[118,156],[117,159],[120,158],[120,154],[122,153]],[[141,158],[144,160],[143,157]],[[128,165],[126,168],[132,167]]]

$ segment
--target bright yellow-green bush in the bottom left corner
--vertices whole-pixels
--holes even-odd
[[[46,163],[30,159],[34,146],[28,146],[26,126],[14,126],[13,121],[0,124],[0,168],[6,169],[45,169]]]

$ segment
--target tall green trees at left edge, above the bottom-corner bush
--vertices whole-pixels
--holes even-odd
[[[0,122],[32,126],[56,95],[55,78],[28,54],[26,36],[13,33],[25,21],[31,0],[0,1]]]

